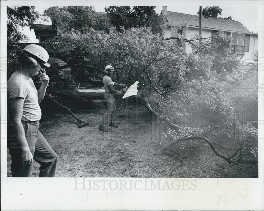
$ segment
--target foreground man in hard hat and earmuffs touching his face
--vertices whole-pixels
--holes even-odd
[[[21,67],[7,82],[7,146],[12,157],[12,177],[31,177],[33,159],[40,164],[39,177],[54,177],[57,154],[39,131],[39,102],[49,83],[44,68],[50,66],[49,54],[43,47],[30,44],[17,55]],[[31,79],[38,74],[39,90]]]

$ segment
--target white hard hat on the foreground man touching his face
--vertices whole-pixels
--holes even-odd
[[[50,64],[48,63],[49,54],[40,45],[30,44],[30,45],[27,45],[22,50],[25,51],[25,52],[31,53],[32,55],[36,56],[37,58],[39,58],[41,61],[44,62],[45,66],[50,67]]]

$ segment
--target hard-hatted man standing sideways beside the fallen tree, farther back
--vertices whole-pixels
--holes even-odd
[[[126,87],[124,84],[117,84],[113,82],[111,77],[115,68],[111,65],[105,66],[106,75],[103,76],[103,85],[105,88],[105,100],[107,103],[107,112],[103,115],[102,122],[99,125],[99,130],[103,132],[108,131],[108,127],[118,127],[113,121],[116,116],[116,105],[115,105],[115,97],[114,93],[122,94],[122,91],[115,90],[113,85],[119,85],[121,87]]]

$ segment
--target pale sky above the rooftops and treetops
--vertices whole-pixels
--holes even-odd
[[[39,2],[39,1],[37,1],[37,2]],[[65,2],[65,1],[63,1],[63,2]],[[74,4],[74,1],[68,1],[68,3],[69,2],[72,5],[77,5],[77,4]],[[78,1],[78,2],[80,2],[80,1]],[[89,4],[90,2],[93,4]],[[100,2],[100,4],[98,4],[98,2]],[[122,3],[118,2],[118,1],[96,1],[96,2],[85,1],[85,3],[80,2],[78,5],[93,5],[95,8],[95,11],[105,12],[104,8],[105,8],[105,6],[109,5],[109,2],[111,2],[111,3],[116,2],[115,4],[111,4],[111,5],[128,5],[128,4],[125,4],[128,1],[122,1]],[[140,3],[139,3],[139,1],[129,1],[130,4],[131,4],[131,2],[135,3],[133,5],[156,6],[155,10],[157,13],[160,13],[162,11],[162,6],[168,6],[168,11],[186,13],[186,14],[191,14],[191,15],[197,15],[197,12],[199,11],[199,6],[202,6],[202,8],[204,8],[206,6],[219,6],[220,8],[222,8],[221,17],[231,16],[233,18],[233,20],[241,22],[250,32],[252,32],[252,31],[254,33],[258,32],[258,7],[257,6],[251,6],[252,4],[249,4],[249,3],[246,3],[246,4],[240,3],[239,6],[234,7],[234,5],[232,5],[231,3],[228,4],[230,6],[226,6],[227,5],[226,3],[222,3],[222,2],[227,2],[227,1],[213,1],[214,4],[210,3],[212,1],[206,1],[206,2],[198,1],[199,4],[196,3],[196,5],[195,5],[195,3],[190,4],[190,1],[185,1],[185,2],[180,1],[181,4],[177,4],[177,6],[175,6],[176,3],[172,3],[171,1],[165,1],[165,2],[163,2],[163,1],[151,1],[151,4],[148,4],[148,3],[142,4],[142,1]],[[194,2],[194,1],[192,1],[192,2]],[[234,1],[228,1],[228,2],[234,2]],[[239,2],[239,1],[235,1],[235,2]],[[243,1],[243,2],[247,2],[247,1]],[[165,4],[165,3],[167,3],[167,4]],[[62,3],[55,4],[55,5],[62,5]],[[67,5],[69,5],[69,4],[67,4]],[[130,5],[131,8],[133,7],[133,5]],[[44,12],[44,10],[46,8],[49,8],[50,6],[51,6],[50,4],[42,2],[40,4],[35,5],[35,10],[41,14]],[[35,23],[50,24],[51,25],[51,22],[43,22],[42,20],[38,20]],[[30,31],[29,27],[25,27],[23,29],[23,32],[30,37],[32,43],[38,42],[38,40],[36,39],[36,36],[34,34],[34,30]]]

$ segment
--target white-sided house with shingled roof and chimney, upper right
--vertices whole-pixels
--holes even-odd
[[[167,6],[163,6],[161,11],[167,26],[165,38],[181,34],[183,38],[190,40],[192,35],[199,35],[199,16],[171,12],[167,8]],[[202,16],[203,38],[212,38],[219,31],[223,31],[233,38],[230,54],[235,54],[241,61],[257,61],[257,33],[251,33],[238,21]],[[184,42],[183,47],[186,52],[191,52],[189,43]]]

